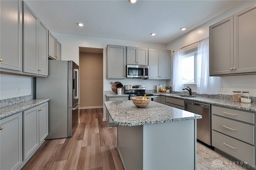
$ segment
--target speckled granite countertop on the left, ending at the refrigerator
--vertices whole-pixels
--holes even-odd
[[[14,115],[15,113],[24,111],[26,109],[30,109],[31,107],[35,107],[49,100],[50,99],[32,99],[21,103],[16,103],[14,105],[2,107],[0,109],[0,119],[3,119],[4,117],[8,117],[10,115]]]

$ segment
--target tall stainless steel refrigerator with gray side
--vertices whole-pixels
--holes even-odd
[[[46,139],[72,136],[78,125],[79,66],[74,61],[49,60],[48,77],[36,78],[36,99],[49,101]]]

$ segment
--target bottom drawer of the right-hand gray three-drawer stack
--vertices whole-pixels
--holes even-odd
[[[238,160],[255,165],[254,146],[228,137],[224,134],[212,130],[212,146],[226,152]]]

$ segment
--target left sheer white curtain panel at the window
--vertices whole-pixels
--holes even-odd
[[[182,51],[177,49],[173,56],[172,91],[182,91]]]

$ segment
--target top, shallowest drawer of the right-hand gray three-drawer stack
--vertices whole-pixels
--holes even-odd
[[[212,106],[212,114],[254,124],[254,113]]]

